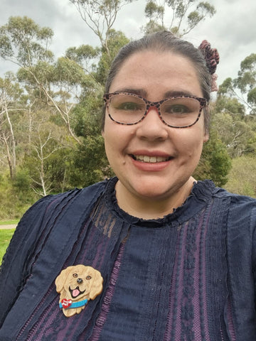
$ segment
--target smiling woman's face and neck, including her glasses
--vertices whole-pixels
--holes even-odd
[[[119,115],[122,120],[126,115],[123,121],[130,120],[131,110],[119,113],[115,104],[127,101],[127,97],[116,99],[115,96],[122,96],[121,89],[129,89],[133,98],[134,92],[147,97],[148,107],[144,116],[138,113],[140,119],[135,124],[116,124],[110,117]],[[188,58],[172,51],[142,50],[125,60],[112,81],[110,92],[119,94],[110,97],[114,97],[114,104],[107,103],[109,116],[105,118],[102,134],[107,158],[119,179],[116,188],[119,207],[144,219],[164,217],[191,192],[194,182],[191,174],[198,164],[203,142],[208,139],[200,117],[203,106],[196,99],[203,97],[196,69]],[[174,92],[186,97],[170,96]],[[127,96],[126,92],[123,94]],[[166,94],[169,94],[167,99]],[[206,106],[206,99],[202,101]],[[171,102],[172,107],[167,118],[163,107],[166,102]],[[186,109],[185,116],[181,111],[178,114],[181,117],[177,118],[176,112],[173,113],[177,104],[191,109]],[[164,161],[145,162],[147,158],[164,158]]]

